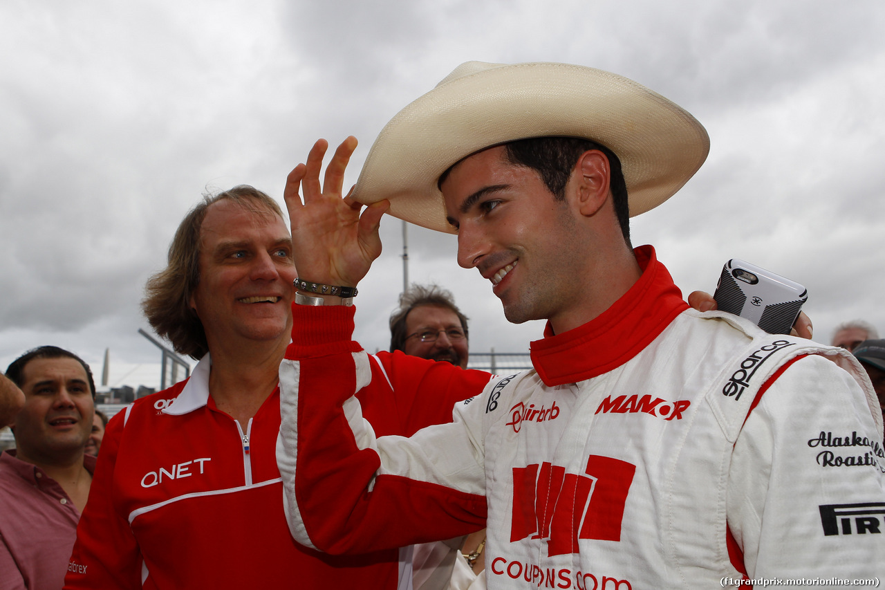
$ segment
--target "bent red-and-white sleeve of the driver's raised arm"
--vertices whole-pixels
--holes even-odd
[[[372,378],[368,356],[350,341],[353,309],[294,306],[293,317],[280,386],[282,423],[296,428],[281,428],[277,462],[295,539],[328,553],[362,553],[480,528],[482,414],[471,412],[480,404],[457,406],[455,423],[412,439],[376,438],[353,397]],[[406,355],[392,360],[428,366]]]

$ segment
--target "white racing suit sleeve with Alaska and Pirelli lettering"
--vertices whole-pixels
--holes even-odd
[[[849,372],[810,355],[775,374],[735,443],[727,502],[750,578],[881,577],[885,453]]]

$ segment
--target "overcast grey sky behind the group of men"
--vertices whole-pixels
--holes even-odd
[[[0,366],[71,348],[100,370],[158,361],[136,332],[145,280],[206,190],[281,200],[313,141],[361,144],[459,63],[561,61],[626,75],[712,141],[675,197],[634,221],[685,293],[729,258],[804,283],[817,339],[885,329],[885,4],[748,0],[0,4]],[[400,221],[360,285],[358,339],[388,344]],[[410,277],[455,292],[471,349],[527,350],[453,237],[410,227]]]

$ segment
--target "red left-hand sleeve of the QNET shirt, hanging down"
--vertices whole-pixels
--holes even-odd
[[[112,417],[98,455],[89,501],[77,525],[77,540],[65,588],[142,587],[142,555],[127,520],[113,507],[113,472],[126,411]]]

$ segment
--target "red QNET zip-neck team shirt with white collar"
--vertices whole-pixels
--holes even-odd
[[[385,374],[374,361],[360,393],[381,434],[449,422],[455,402],[489,381],[444,362],[408,364]],[[335,557],[292,540],[275,455],[279,388],[241,427],[215,407],[210,366],[207,355],[188,382],[108,424],[65,588],[396,588],[395,549]]]

